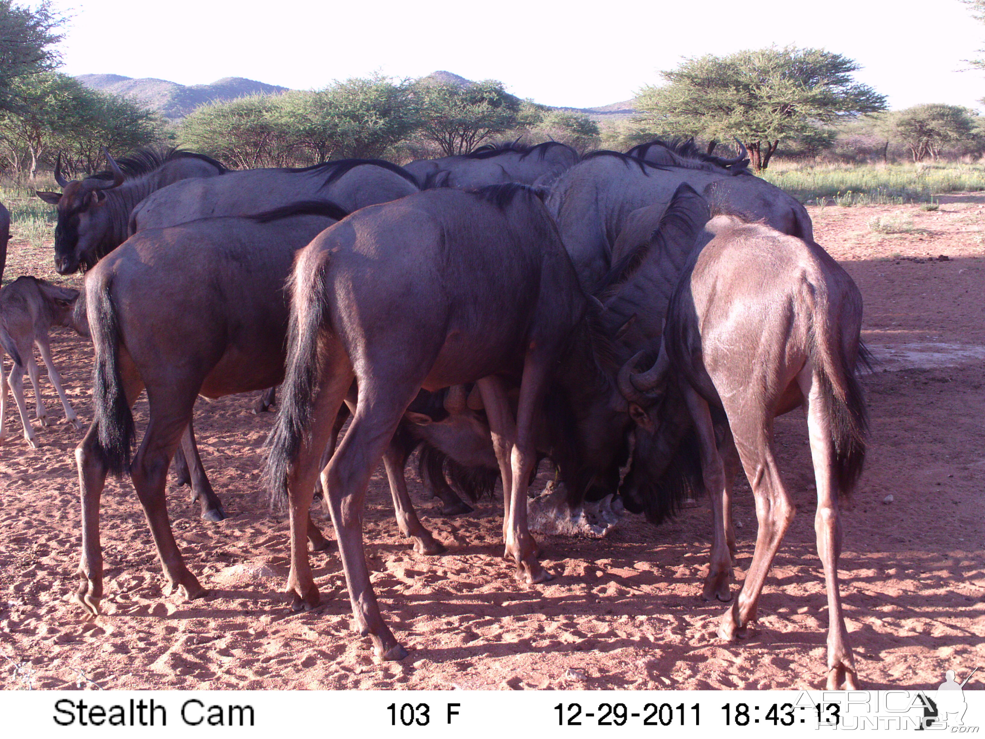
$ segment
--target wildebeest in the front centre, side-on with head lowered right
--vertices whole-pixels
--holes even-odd
[[[506,555],[531,582],[551,578],[527,527],[534,425],[545,396],[555,460],[584,492],[624,461],[627,403],[594,303],[544,204],[527,187],[429,190],[363,208],[298,254],[290,354],[268,476],[289,502],[296,606],[318,603],[304,515],[353,378],[356,415],[321,474],[357,627],[384,659],[407,652],[387,628],[362,553],[369,476],[419,388],[477,382],[503,482]],[[552,376],[554,375],[554,376]],[[505,378],[519,380],[513,421]],[[642,411],[640,411],[642,413]]]

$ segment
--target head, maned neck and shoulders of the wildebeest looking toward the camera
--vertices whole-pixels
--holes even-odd
[[[55,225],[55,269],[70,275],[88,270],[126,240],[133,207],[155,190],[181,179],[213,177],[226,168],[210,157],[171,149],[141,149],[116,162],[106,153],[109,170],[69,181],[55,164],[62,192],[37,192],[58,206]]]

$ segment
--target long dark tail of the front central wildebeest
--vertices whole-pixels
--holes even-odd
[[[325,302],[325,264],[311,274],[299,274],[302,261],[296,263],[290,281],[292,294],[291,323],[288,329],[288,366],[281,385],[281,408],[277,422],[267,438],[266,480],[271,504],[283,506],[288,501],[288,485],[301,443],[309,435],[321,362],[319,336],[327,321]]]

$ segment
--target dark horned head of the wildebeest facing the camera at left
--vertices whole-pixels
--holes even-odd
[[[55,269],[70,275],[96,264],[102,256],[100,247],[110,234],[113,214],[106,208],[107,191],[123,184],[125,176],[109,153],[103,150],[112,179],[86,177],[67,180],[61,173],[61,155],[55,162],[58,192],[37,192],[46,203],[58,206],[55,225]]]

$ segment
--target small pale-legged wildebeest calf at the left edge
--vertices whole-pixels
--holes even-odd
[[[61,376],[51,361],[48,347],[48,330],[51,326],[73,326],[72,311],[79,297],[78,290],[59,288],[36,277],[19,277],[0,290],[0,345],[14,361],[10,370],[10,388],[14,393],[17,410],[21,414],[24,437],[37,448],[37,439],[28,419],[28,407],[24,402],[24,370],[27,367],[34,388],[35,417],[42,426],[48,426],[47,410],[41,400],[37,385],[37,363],[34,362],[33,346],[41,353],[48,377],[55,386],[58,397],[65,409],[65,420],[77,430],[82,430],[72,405],[62,389]],[[0,355],[2,356],[2,355]],[[0,365],[0,442],[6,436],[4,418],[7,415],[7,379]]]

